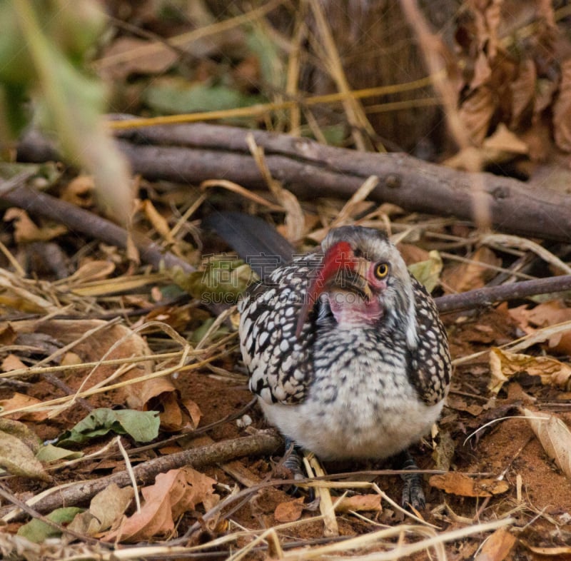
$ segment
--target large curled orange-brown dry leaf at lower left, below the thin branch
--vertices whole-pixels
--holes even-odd
[[[141,512],[128,517],[118,530],[106,534],[104,540],[134,543],[169,535],[174,530],[174,521],[212,495],[215,484],[211,477],[192,468],[157,475],[154,485],[141,490],[145,499]]]

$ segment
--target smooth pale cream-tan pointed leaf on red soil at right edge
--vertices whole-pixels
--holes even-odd
[[[571,479],[571,430],[555,415],[522,409],[545,453]]]

